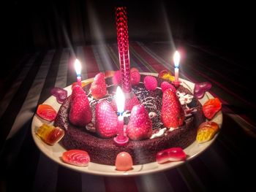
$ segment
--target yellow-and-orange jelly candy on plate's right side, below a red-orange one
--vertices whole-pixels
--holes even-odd
[[[208,142],[219,131],[219,125],[213,121],[201,123],[197,129],[197,142]]]

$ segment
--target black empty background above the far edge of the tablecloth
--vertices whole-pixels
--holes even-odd
[[[11,0],[1,4],[1,82],[25,53],[116,43],[118,6],[127,7],[129,41],[193,42],[252,64],[244,61],[252,57],[247,52],[254,28],[254,10],[246,1]]]

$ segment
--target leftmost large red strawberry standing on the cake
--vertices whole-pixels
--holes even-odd
[[[87,123],[91,122],[91,119],[91,108],[86,94],[75,96],[69,111],[70,122],[75,126],[86,126]]]

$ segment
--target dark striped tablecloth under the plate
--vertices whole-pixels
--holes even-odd
[[[241,78],[249,69],[219,50],[181,44],[180,77],[211,82],[222,101],[223,125],[211,147],[192,161],[155,174],[102,177],[59,166],[42,154],[31,137],[31,119],[53,87],[75,82],[75,55],[82,78],[117,70],[116,44],[89,45],[24,55],[12,69],[0,100],[0,191],[256,191],[255,94]],[[140,72],[173,71],[170,43],[130,42],[131,66]]]

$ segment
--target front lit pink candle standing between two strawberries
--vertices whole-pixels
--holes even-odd
[[[114,141],[118,145],[125,145],[129,138],[124,135],[124,104],[125,104],[125,97],[123,91],[118,86],[116,88],[116,106],[118,112],[118,135],[114,138]]]

